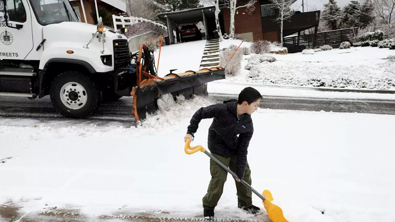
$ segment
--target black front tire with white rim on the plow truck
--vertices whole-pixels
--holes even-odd
[[[49,92],[51,102],[66,117],[84,118],[100,105],[101,92],[96,83],[83,73],[66,71],[58,75]]]

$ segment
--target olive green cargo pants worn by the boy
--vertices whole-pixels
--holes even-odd
[[[218,156],[217,154],[211,153],[215,158],[217,158],[220,162],[228,166],[229,169],[233,172],[236,172],[236,163],[237,156],[232,156],[228,158],[224,158],[222,156]],[[228,177],[228,171],[218,165],[214,160],[210,159],[210,173],[211,173],[211,181],[209,183],[209,188],[207,189],[207,194],[203,197],[203,208],[206,210],[213,210],[224,190],[224,184],[226,178]],[[229,174],[230,175],[230,174]],[[245,182],[251,185],[251,171],[248,163],[245,168],[244,179]],[[235,180],[234,180],[235,181]],[[238,204],[241,207],[249,207],[252,205],[252,191],[248,189],[246,186],[241,184],[241,182],[236,183],[237,189],[237,199]]]

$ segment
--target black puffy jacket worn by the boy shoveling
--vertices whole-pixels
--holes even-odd
[[[223,157],[237,155],[235,173],[239,179],[243,179],[247,164],[247,148],[254,132],[251,116],[245,113],[238,120],[237,100],[227,100],[198,109],[192,116],[187,133],[196,133],[199,122],[209,118],[213,118],[207,141],[209,150]]]

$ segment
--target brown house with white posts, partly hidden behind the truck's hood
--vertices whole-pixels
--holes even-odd
[[[82,7],[81,2],[83,2],[84,7]],[[113,26],[111,18],[112,14],[126,16],[125,0],[96,0],[96,2],[99,15],[102,16],[103,23],[106,26]],[[97,24],[95,0],[70,0],[70,3],[78,13],[79,17],[81,17],[81,21],[83,23]],[[105,13],[105,15],[103,15],[103,13]],[[87,21],[85,21],[85,16]]]

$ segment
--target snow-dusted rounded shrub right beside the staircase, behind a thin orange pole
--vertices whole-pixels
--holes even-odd
[[[228,48],[220,50],[220,66],[225,67],[230,57],[235,53],[237,49],[236,45],[231,45]],[[243,58],[243,51],[237,50],[235,55],[230,60],[228,66],[225,69],[225,75],[235,76],[239,74],[241,70],[241,59]]]

